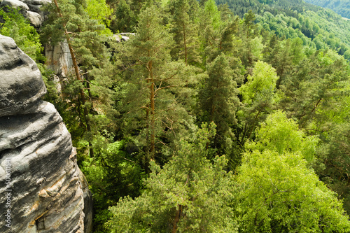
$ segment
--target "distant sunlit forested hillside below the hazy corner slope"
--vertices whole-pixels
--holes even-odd
[[[320,8],[303,1],[225,1],[237,15],[248,10],[258,15],[260,27],[277,36],[302,38],[303,44],[316,49],[333,49],[350,59],[350,21],[332,10]]]

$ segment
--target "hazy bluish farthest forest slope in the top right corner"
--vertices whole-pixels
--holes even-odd
[[[316,6],[321,6],[324,8],[329,8],[330,10],[334,10],[342,17],[346,17],[350,19],[350,1],[349,0],[305,0],[307,3],[314,4]]]

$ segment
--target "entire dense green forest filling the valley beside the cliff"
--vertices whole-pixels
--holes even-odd
[[[350,232],[349,22],[302,1],[53,0],[41,69],[94,232]],[[127,41],[113,34],[131,32]],[[43,45],[67,41],[57,89]]]

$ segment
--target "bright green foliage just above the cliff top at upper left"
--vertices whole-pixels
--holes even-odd
[[[36,29],[29,21],[14,8],[7,8],[6,11],[1,9],[0,18],[5,21],[0,23],[0,34],[13,38],[18,47],[34,61],[41,61],[43,48]]]

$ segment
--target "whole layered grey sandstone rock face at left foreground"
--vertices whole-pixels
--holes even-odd
[[[91,232],[71,136],[36,64],[0,35],[0,232]]]

